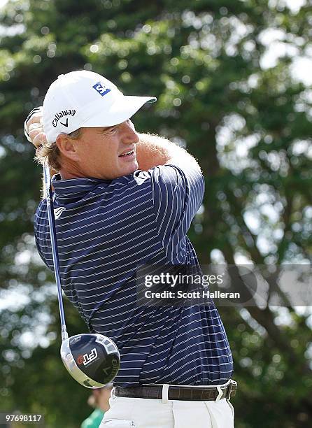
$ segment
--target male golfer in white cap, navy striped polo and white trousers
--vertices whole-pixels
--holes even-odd
[[[192,155],[136,133],[131,118],[149,101],[73,71],[27,118],[36,159],[55,173],[62,287],[90,331],[120,350],[102,428],[232,428],[232,354],[215,306],[136,304],[137,266],[199,263],[186,234],[204,196]],[[53,271],[45,199],[34,231]]]

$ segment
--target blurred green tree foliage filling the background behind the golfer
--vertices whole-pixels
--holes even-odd
[[[189,236],[201,264],[235,264],[239,257],[257,265],[310,262],[311,90],[291,73],[293,52],[309,52],[309,12],[310,0],[297,13],[278,0],[18,0],[3,8],[1,294],[20,290],[26,299],[0,313],[3,406],[41,410],[51,427],[64,426],[64,417],[75,427],[88,411],[87,393],[59,359],[54,286],[32,237],[41,171],[22,123],[52,80],[89,69],[125,94],[158,97],[153,110],[135,117],[136,127],[173,138],[199,159],[206,195]],[[272,31],[284,51],[264,68],[264,39]],[[276,285],[274,278],[269,283]],[[85,329],[68,305],[66,313],[70,334]],[[308,426],[309,312],[286,301],[278,310],[220,313],[239,381],[236,427]],[[41,322],[44,314],[50,318]],[[49,342],[29,351],[23,337],[45,323]],[[64,416],[68,397],[75,399]]]

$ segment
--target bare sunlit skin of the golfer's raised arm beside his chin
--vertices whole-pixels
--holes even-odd
[[[173,164],[192,167],[201,171],[197,160],[185,149],[172,141],[152,134],[139,134],[140,141],[136,145],[136,159],[139,169],[148,171],[153,166]]]

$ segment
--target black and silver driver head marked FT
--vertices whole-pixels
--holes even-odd
[[[115,378],[120,354],[115,343],[102,334],[76,334],[61,345],[61,357],[67,371],[87,388],[100,388]]]

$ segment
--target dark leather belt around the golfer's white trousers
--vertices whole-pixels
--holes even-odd
[[[168,399],[169,400],[195,400],[195,401],[215,401],[218,399],[230,399],[231,396],[234,397],[237,390],[237,383],[234,380],[230,380],[229,384],[220,387],[213,386],[202,386],[202,387],[192,387],[185,386],[181,387],[179,385],[170,385],[168,390]],[[162,399],[162,385],[142,385],[139,387],[115,387],[113,394],[117,397],[127,397],[127,398],[146,398],[146,399]]]

